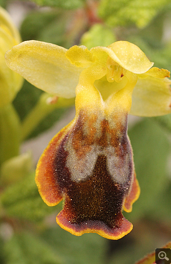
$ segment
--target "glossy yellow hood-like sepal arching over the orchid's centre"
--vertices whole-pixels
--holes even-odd
[[[105,51],[113,61],[133,73],[145,73],[153,65],[139,47],[128,41],[116,41],[108,47],[96,47],[90,51],[94,49]]]

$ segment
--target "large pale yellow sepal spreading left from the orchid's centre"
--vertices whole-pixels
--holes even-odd
[[[42,41],[24,41],[5,54],[8,67],[43,91],[75,97],[82,68],[65,57],[67,49]]]

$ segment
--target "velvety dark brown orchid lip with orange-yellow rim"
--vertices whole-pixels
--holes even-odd
[[[51,206],[64,199],[57,223],[74,235],[95,232],[116,240],[132,229],[122,214],[123,208],[131,211],[139,192],[127,136],[127,115],[122,122],[115,120],[116,124],[111,125],[100,114],[88,117],[80,111],[78,119],[52,139],[38,163],[40,194]],[[86,160],[87,155],[90,160]],[[91,160],[93,166],[88,163],[87,170]],[[110,165],[109,170],[110,162],[114,167]]]

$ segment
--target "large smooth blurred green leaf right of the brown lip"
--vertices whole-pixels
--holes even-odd
[[[169,184],[167,162],[170,142],[160,125],[145,119],[129,130],[133,148],[135,171],[140,184],[139,199],[133,204],[131,213],[124,213],[130,222],[159,210],[156,199]]]

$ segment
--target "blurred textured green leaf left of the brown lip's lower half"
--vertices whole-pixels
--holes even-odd
[[[59,206],[49,207],[43,202],[34,178],[34,174],[31,174],[1,193],[0,202],[6,216],[41,221],[52,212],[59,212],[61,203]]]

